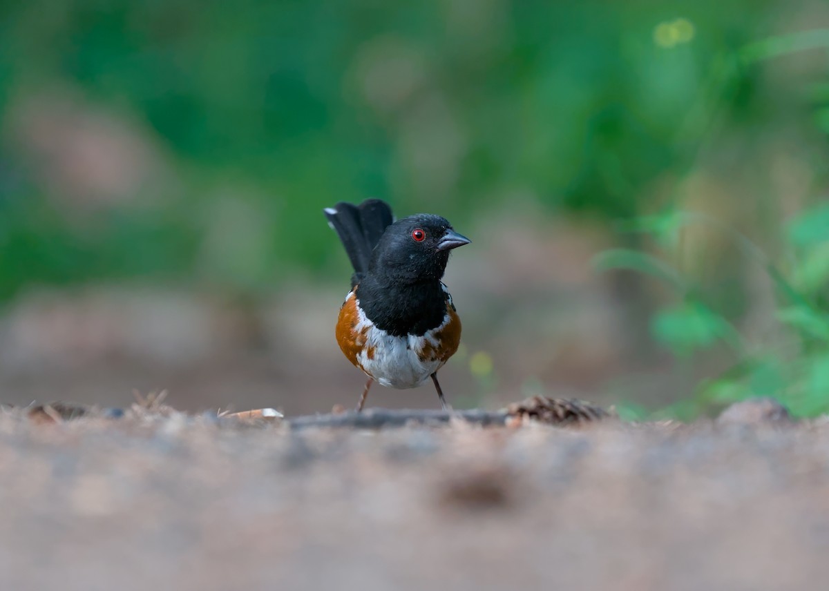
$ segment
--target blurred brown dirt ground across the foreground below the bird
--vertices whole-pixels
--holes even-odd
[[[35,420],[36,419],[36,420]],[[824,589],[829,422],[0,415],[0,589]]]

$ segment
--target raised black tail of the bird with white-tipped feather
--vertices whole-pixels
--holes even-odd
[[[368,270],[371,251],[386,226],[394,221],[391,208],[380,199],[366,199],[359,206],[340,201],[325,209],[325,216],[346,248],[356,278]]]

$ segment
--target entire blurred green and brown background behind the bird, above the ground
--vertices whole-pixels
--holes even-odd
[[[806,396],[802,380],[803,413],[829,400],[827,2],[32,0],[0,16],[5,399],[351,404],[360,376],[323,331],[350,270],[321,210],[380,196],[473,238],[447,276],[468,322],[444,371],[464,404],[543,391],[637,416],[696,400],[670,407],[690,415]],[[803,351],[827,361],[804,369]]]

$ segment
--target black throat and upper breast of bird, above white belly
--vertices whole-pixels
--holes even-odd
[[[446,316],[448,296],[439,279],[417,283],[380,282],[366,274],[357,288],[366,318],[393,337],[423,336]]]

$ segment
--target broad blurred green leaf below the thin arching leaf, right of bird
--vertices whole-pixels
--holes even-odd
[[[676,356],[686,357],[714,345],[720,338],[730,337],[732,330],[723,317],[701,303],[690,302],[657,312],[651,321],[651,332]]]

